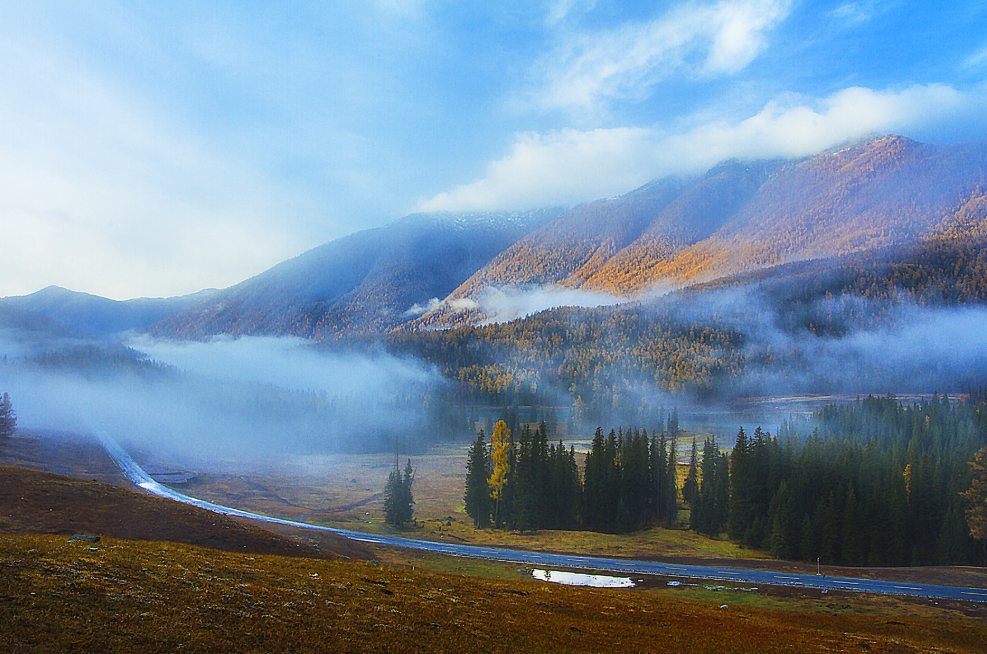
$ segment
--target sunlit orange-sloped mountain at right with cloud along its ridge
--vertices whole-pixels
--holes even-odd
[[[888,136],[795,161],[729,161],[697,179],[652,182],[561,215],[477,271],[416,326],[482,320],[490,286],[633,297],[655,286],[916,243],[957,221],[983,220],[985,192],[987,143],[938,147]]]

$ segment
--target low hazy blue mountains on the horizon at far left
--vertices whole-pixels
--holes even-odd
[[[214,292],[206,290],[179,297],[118,301],[48,286],[30,295],[2,298],[0,305],[33,312],[76,332],[104,338],[121,332],[141,331]]]

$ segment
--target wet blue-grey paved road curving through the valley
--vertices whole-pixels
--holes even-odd
[[[478,545],[456,545],[454,543],[436,543],[432,541],[416,540],[413,538],[400,538],[397,536],[380,536],[376,534],[365,534],[359,531],[348,529],[334,529],[332,527],[322,527],[311,525],[294,520],[284,520],[271,516],[242,511],[228,506],[206,502],[174,491],[167,486],[163,486],[151,479],[144,472],[137,462],[128,455],[123,448],[101,428],[94,428],[93,431],[99,438],[103,447],[123,473],[132,482],[144,490],[167,497],[172,500],[191,504],[209,511],[222,513],[223,515],[235,516],[239,518],[249,518],[261,522],[269,522],[291,527],[301,527],[303,529],[314,529],[318,531],[329,531],[353,540],[379,545],[392,545],[413,550],[426,552],[436,552],[451,556],[463,556],[476,559],[491,559],[495,561],[507,561],[520,563],[529,566],[544,566],[546,568],[576,568],[585,570],[600,570],[619,574],[621,576],[639,575],[661,575],[665,577],[680,577],[687,579],[709,579],[730,582],[734,584],[754,584],[754,585],[774,585],[774,586],[800,586],[807,588],[818,588],[826,590],[851,590],[864,593],[884,593],[891,595],[914,595],[918,597],[934,597],[939,599],[958,599],[977,602],[987,602],[987,589],[979,588],[958,588],[953,586],[931,586],[925,584],[906,584],[892,581],[876,581],[870,579],[848,579],[842,577],[826,577],[817,575],[800,575],[780,572],[770,572],[763,570],[739,570],[736,568],[716,568],[694,565],[677,565],[672,563],[660,563],[656,561],[629,561],[624,559],[609,559],[600,557],[571,556],[565,554],[547,554],[543,552],[526,552],[523,550],[508,550],[496,547],[482,547]]]

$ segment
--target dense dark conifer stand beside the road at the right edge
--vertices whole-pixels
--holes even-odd
[[[810,424],[814,425],[804,436]],[[970,461],[987,442],[983,393],[912,405],[892,396],[831,405],[814,421],[737,436],[731,540],[779,558],[845,565],[970,564]]]

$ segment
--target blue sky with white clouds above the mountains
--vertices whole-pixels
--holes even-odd
[[[987,3],[0,2],[0,296],[222,288],[415,211],[987,139]]]

